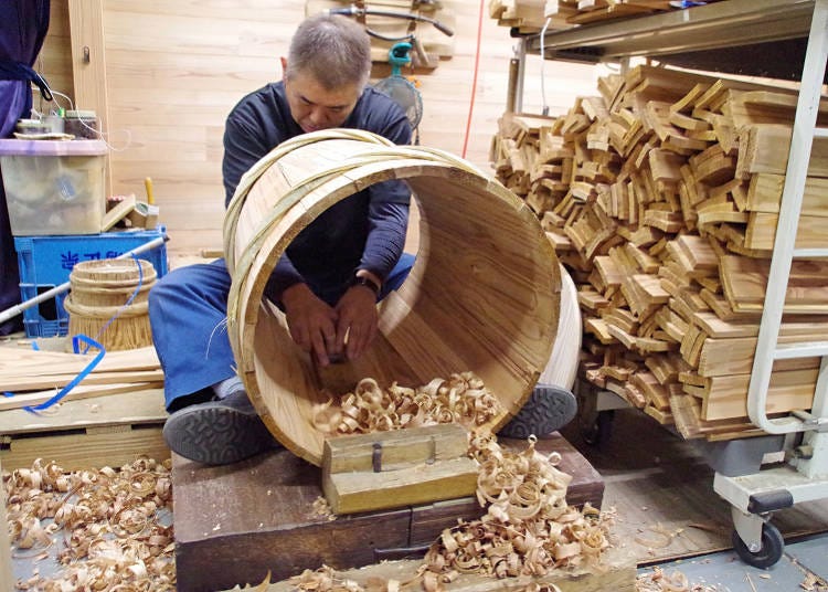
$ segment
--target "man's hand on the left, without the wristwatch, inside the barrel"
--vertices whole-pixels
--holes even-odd
[[[320,366],[328,366],[330,356],[342,353],[344,331],[339,335],[337,311],[319,299],[307,284],[294,284],[287,288],[282,294],[282,304],[294,342],[314,353]]]

